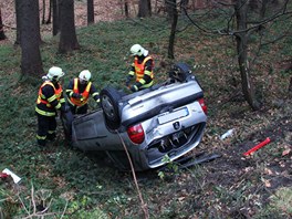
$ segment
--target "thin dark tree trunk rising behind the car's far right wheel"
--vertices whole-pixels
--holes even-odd
[[[168,0],[169,2],[171,2],[173,6],[176,6],[176,0]],[[171,30],[170,30],[170,35],[169,35],[169,42],[168,42],[168,58],[169,59],[175,59],[175,52],[174,52],[174,48],[175,48],[175,38],[176,38],[176,28],[177,28],[177,8],[173,7],[171,8],[171,15],[173,18],[170,18],[171,20]]]

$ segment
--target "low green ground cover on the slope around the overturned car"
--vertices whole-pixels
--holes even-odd
[[[186,21],[180,20],[179,24],[184,27]],[[40,72],[39,79],[34,79],[33,83],[28,83],[29,81],[20,75],[20,50],[13,49],[13,45],[1,45],[0,170],[10,168],[22,178],[21,186],[18,188],[20,197],[17,196],[10,180],[0,184],[0,207],[6,216],[9,213],[11,217],[28,216],[28,212],[20,208],[20,198],[25,200],[24,204],[29,207],[33,199],[31,197],[33,186],[35,192],[43,189],[50,190],[51,195],[45,201],[52,200],[50,211],[59,212],[59,217],[65,208],[64,218],[71,219],[143,217],[132,176],[118,173],[103,164],[104,154],[93,158],[82,152],[66,147],[60,121],[58,121],[59,140],[45,149],[40,149],[36,146],[34,105],[41,76],[52,65],[61,66],[66,73],[64,85],[69,83],[69,80],[77,76],[82,70],[88,69],[93,73],[93,82],[98,90],[108,84],[123,87],[132,62],[128,52],[134,43],[143,44],[155,55],[155,77],[158,82],[163,81],[167,76],[167,67],[169,67],[169,65],[167,67],[160,66],[161,62],[167,61],[168,63],[168,27],[169,24],[165,19],[158,18],[117,21],[111,25],[106,22],[100,22],[77,29],[81,50],[66,55],[58,53],[59,36],[46,36],[45,44],[41,46],[44,72]],[[278,48],[285,50],[279,51],[289,55],[292,51],[291,43],[289,40],[283,40],[281,43]],[[233,92],[241,91],[232,45],[232,39],[204,35],[194,27],[178,33],[176,38],[176,60],[174,62],[186,62],[190,66],[200,66],[194,69],[194,72],[205,90],[206,102],[210,112],[206,129],[208,135],[200,145],[201,149],[207,152],[218,149],[223,153],[229,147],[232,147],[232,150],[228,152],[238,149],[239,147],[237,148],[236,145],[250,139],[250,136],[254,134],[253,132],[257,133],[263,127],[262,124],[267,123],[267,116],[271,116],[268,112],[261,117],[260,113],[252,112],[244,102],[240,102],[240,98],[239,102],[229,101]],[[270,60],[281,61],[281,58],[274,56],[275,51],[277,46],[265,48],[267,53],[261,64],[267,64]],[[257,80],[265,79],[269,71],[261,69],[260,73],[254,75]],[[288,85],[290,75],[274,73],[271,76],[277,84],[265,91],[267,98],[270,96],[281,97],[285,92],[284,85]],[[238,82],[237,85],[230,84],[233,77]],[[269,80],[265,83],[271,85]],[[92,108],[93,104],[91,105]],[[280,112],[270,105],[267,105],[267,108],[271,108],[270,111],[274,114]],[[232,115],[237,115],[237,112],[240,115],[232,117]],[[237,128],[237,138],[232,140],[232,145],[228,145],[228,143],[223,145],[218,140],[218,136],[231,128],[230,126]],[[234,154],[238,155],[239,153],[241,152]],[[264,157],[279,156],[274,156],[273,150],[268,155],[264,154]],[[258,159],[262,161],[261,156]],[[234,166],[238,163],[236,161]],[[225,168],[225,165],[219,167]],[[255,171],[255,179],[247,177],[246,190],[243,188],[229,190],[230,185],[217,185],[220,182],[220,178],[211,178],[211,169],[213,168],[216,167],[210,163],[206,167],[196,166],[188,171],[178,171],[176,175],[165,173],[165,180],[160,179],[156,171],[139,175],[139,186],[148,206],[150,218],[228,218],[232,216],[232,212],[226,209],[243,208],[250,200],[249,192],[252,194],[251,189],[255,187],[255,185],[249,184],[249,179],[258,182],[260,181],[260,174]],[[213,170],[220,173],[220,169]],[[272,205],[278,208],[283,201],[282,199],[279,199],[278,202],[277,199],[273,200],[275,202]],[[226,208],[220,210],[219,207],[222,202],[226,202]],[[236,212],[234,210],[233,213]],[[262,206],[258,212],[259,215],[271,216],[274,210]],[[275,210],[275,212],[278,211]],[[286,213],[289,215],[291,211]]]

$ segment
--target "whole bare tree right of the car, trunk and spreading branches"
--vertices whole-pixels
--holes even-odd
[[[258,19],[254,15],[249,17],[249,12],[251,11],[249,8],[250,0],[232,0],[229,1],[230,3],[226,3],[226,1],[220,1],[220,0],[213,2],[217,3],[217,6],[213,6],[213,8],[216,7],[217,8],[219,7],[219,9],[220,7],[228,8],[228,10],[221,9],[221,12],[223,14],[222,18],[226,19],[226,27],[222,29],[219,28],[212,30],[208,29],[202,24],[202,22],[194,21],[194,19],[191,19],[187,13],[186,14],[191,21],[191,23],[202,32],[219,34],[219,35],[230,35],[232,38],[236,38],[237,58],[238,58],[238,65],[241,75],[242,93],[244,95],[246,101],[251,106],[251,108],[259,109],[261,107],[260,100],[255,95],[257,87],[253,84],[254,80],[252,79],[252,74],[251,74],[252,73],[251,64],[253,64],[254,62],[253,63],[250,62],[250,60],[252,60],[250,56],[251,48],[249,46],[250,39],[251,35],[255,36],[255,34],[259,34],[259,39],[260,39],[259,46],[258,46],[258,51],[254,54],[253,58],[254,60],[257,58],[257,54],[259,54],[259,50],[264,46],[264,43],[262,43],[262,38],[263,38],[262,30],[265,29],[264,27],[268,25],[269,23],[272,23],[274,20],[279,19],[280,17],[292,14],[292,11],[288,11],[288,7],[286,7],[289,0],[282,1],[282,6],[281,6],[282,8],[280,8],[280,6],[278,8],[271,7],[271,10],[268,13],[268,15],[265,15],[268,2],[261,1],[261,3],[264,4],[265,9],[264,9],[264,13],[259,13]],[[262,4],[260,4],[259,7],[260,9],[261,7],[263,7]],[[278,4],[280,3],[278,2]],[[253,4],[254,10],[257,7]],[[230,13],[231,11],[230,9],[233,9],[232,13]],[[218,19],[218,11],[220,10],[216,11],[217,13],[215,17],[217,19]],[[208,12],[209,14],[211,14],[210,10]],[[234,27],[233,23],[236,23]],[[265,43],[265,45],[267,44],[269,44],[269,42]]]

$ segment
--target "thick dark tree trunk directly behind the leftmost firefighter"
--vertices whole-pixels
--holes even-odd
[[[29,76],[43,74],[40,53],[40,13],[39,1],[19,2],[21,14],[21,73]]]

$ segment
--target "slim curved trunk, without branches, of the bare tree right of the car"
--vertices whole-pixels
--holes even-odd
[[[237,0],[234,10],[237,15],[238,31],[247,30],[247,0]],[[240,69],[241,85],[244,98],[249,103],[249,105],[257,111],[260,108],[260,104],[255,98],[254,87],[252,84],[252,80],[250,79],[250,67],[248,63],[248,36],[249,35],[247,31],[242,31],[236,34],[238,63]]]

